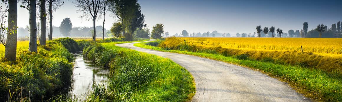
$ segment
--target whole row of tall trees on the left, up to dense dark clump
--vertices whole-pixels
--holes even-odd
[[[48,1],[48,2],[46,2]],[[53,26],[52,26],[52,12],[56,11],[59,7],[64,4],[63,0],[19,0],[22,3],[20,7],[27,8],[29,10],[29,51],[37,52],[37,15],[39,16],[41,27],[40,27],[40,45],[45,45],[46,35],[46,18],[49,15],[50,33],[49,40],[52,40]],[[17,39],[17,3],[18,0],[3,0],[6,5],[6,9],[1,11],[4,15],[1,16],[1,42],[5,46],[5,58],[14,61],[16,60],[16,39]],[[105,17],[106,11],[115,14],[121,21],[123,34],[127,40],[132,40],[132,33],[136,28],[142,28],[144,24],[144,15],[141,13],[140,4],[137,0],[75,0],[73,2],[78,8],[77,12],[82,13],[81,18],[93,20],[93,40],[96,37],[96,18],[100,15]],[[49,14],[46,14],[46,6],[48,5]],[[37,6],[40,9],[36,9]],[[36,12],[40,13],[37,14]],[[8,12],[8,19],[5,15]],[[90,16],[89,16],[90,15]],[[8,22],[6,22],[8,21]],[[7,27],[6,27],[7,23]],[[103,25],[105,19],[103,21]],[[125,33],[127,32],[127,33]],[[104,28],[103,28],[103,39],[104,39]],[[5,39],[6,35],[6,39]]]

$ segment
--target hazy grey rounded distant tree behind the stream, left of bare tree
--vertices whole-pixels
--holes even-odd
[[[70,36],[70,31],[73,28],[73,23],[71,23],[70,18],[65,18],[61,22],[60,32],[65,36]]]

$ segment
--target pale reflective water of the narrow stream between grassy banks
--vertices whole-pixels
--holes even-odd
[[[76,53],[73,83],[67,96],[69,98],[84,99],[88,90],[92,90],[92,85],[103,84],[106,86],[109,71],[103,67],[98,67],[92,61],[83,59],[82,53]]]

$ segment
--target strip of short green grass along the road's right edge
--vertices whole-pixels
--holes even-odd
[[[244,58],[236,58],[231,56],[224,56],[222,54],[213,54],[210,52],[196,52],[196,50],[194,52],[189,52],[187,50],[170,50],[168,48],[161,48],[150,45],[153,45],[153,43],[144,42],[134,44],[134,46],[137,47],[159,50],[163,52],[200,56],[257,69],[263,73],[268,74],[269,76],[273,76],[280,79],[281,81],[288,82],[289,85],[295,88],[295,90],[303,93],[306,97],[316,99],[316,101],[342,101],[341,77],[330,75],[323,70],[304,68],[300,65],[277,64],[267,61],[263,62]],[[183,47],[185,48],[189,46]]]

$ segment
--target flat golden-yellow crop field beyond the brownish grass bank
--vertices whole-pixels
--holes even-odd
[[[341,38],[181,38],[197,46],[313,52],[320,55],[341,56]]]

